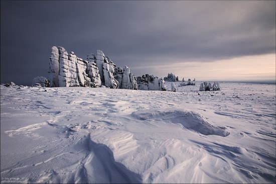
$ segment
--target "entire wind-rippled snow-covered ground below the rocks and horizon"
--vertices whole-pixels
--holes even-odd
[[[274,183],[275,85],[199,85],[1,85],[1,180]]]

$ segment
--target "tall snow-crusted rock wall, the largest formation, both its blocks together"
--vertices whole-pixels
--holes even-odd
[[[137,89],[135,76],[130,69],[116,65],[101,50],[88,54],[87,61],[68,54],[63,47],[52,47],[49,69],[50,87],[88,86]]]

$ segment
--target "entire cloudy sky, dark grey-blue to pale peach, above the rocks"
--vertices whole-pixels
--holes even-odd
[[[1,1],[1,83],[48,77],[52,46],[135,76],[275,80],[275,1]]]

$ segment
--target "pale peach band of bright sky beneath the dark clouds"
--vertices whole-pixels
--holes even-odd
[[[255,56],[242,56],[231,59],[216,60],[213,62],[177,62],[173,64],[152,66],[137,66],[133,69],[151,70],[153,72],[166,73],[175,71],[174,74],[197,80],[275,80],[276,55],[263,54]]]

